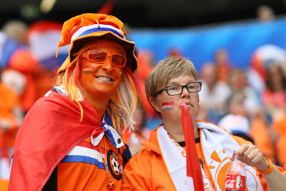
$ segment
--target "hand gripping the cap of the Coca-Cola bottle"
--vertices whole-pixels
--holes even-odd
[[[264,158],[260,150],[252,144],[243,144],[237,151],[237,158],[248,166],[265,171],[269,168],[269,162]],[[229,158],[233,161],[233,156]]]

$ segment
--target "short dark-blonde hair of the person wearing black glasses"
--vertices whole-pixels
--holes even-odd
[[[194,64],[187,58],[166,58],[161,60],[145,80],[145,93],[147,100],[149,101],[150,97],[154,97],[156,99],[156,93],[158,90],[165,87],[170,79],[176,78],[180,75],[192,75],[195,80],[198,78]],[[161,114],[155,109],[154,111],[161,118]]]

